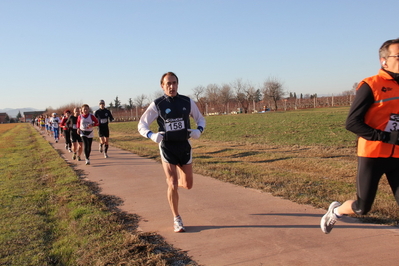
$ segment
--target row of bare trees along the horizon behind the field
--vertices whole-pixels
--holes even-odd
[[[293,110],[327,106],[350,105],[355,95],[355,83],[351,90],[344,91],[337,96],[318,97],[317,94],[297,95],[286,92],[283,82],[278,78],[269,77],[261,86],[254,86],[250,82],[236,79],[229,84],[209,84],[193,88],[193,95],[189,95],[198,105],[204,115],[253,113],[278,110]],[[136,120],[155,98],[162,96],[160,90],[152,96],[144,94],[122,104],[118,96],[109,103],[110,110],[122,120]]]

